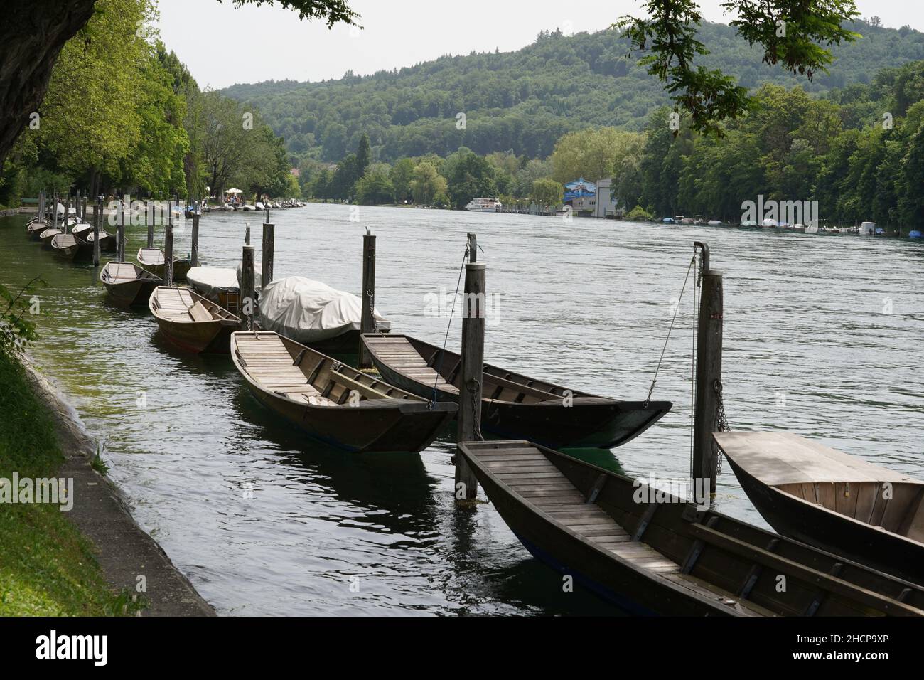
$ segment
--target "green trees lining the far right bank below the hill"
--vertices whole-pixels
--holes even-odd
[[[614,178],[632,216],[741,219],[742,203],[818,201],[820,217],[924,224],[924,61],[883,68],[869,84],[821,96],[765,84],[756,106],[722,135],[701,135],[666,106],[641,131],[594,127],[565,133],[548,158],[459,147],[394,163],[372,160],[361,134],[335,166],[301,164],[306,196],[360,204],[413,201],[461,208],[475,196],[505,204],[556,205],[570,179]]]

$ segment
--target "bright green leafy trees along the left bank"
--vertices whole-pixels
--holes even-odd
[[[281,137],[259,113],[202,92],[153,32],[153,0],[98,0],[65,44],[30,125],[0,175],[0,204],[62,194],[204,197],[237,184],[299,192]]]

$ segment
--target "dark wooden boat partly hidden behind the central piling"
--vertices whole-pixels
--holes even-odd
[[[461,359],[406,335],[363,336],[386,382],[426,399],[457,402]],[[555,449],[625,444],[656,423],[671,402],[620,402],[484,365],[481,431],[529,438]],[[570,394],[569,394],[570,393]]]

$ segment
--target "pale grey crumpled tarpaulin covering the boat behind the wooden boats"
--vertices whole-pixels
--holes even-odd
[[[297,342],[309,343],[359,330],[362,301],[326,283],[305,277],[277,278],[260,295],[260,326]],[[380,330],[391,324],[375,310]]]

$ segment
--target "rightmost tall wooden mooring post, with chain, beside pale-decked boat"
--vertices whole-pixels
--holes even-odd
[[[697,493],[715,493],[718,447],[712,433],[718,429],[722,398],[722,272],[711,269],[709,245],[697,241],[702,252],[702,284],[696,356],[696,409],[693,416],[693,481]],[[701,480],[701,481],[700,481]],[[708,484],[708,486],[707,486]],[[698,498],[705,502],[708,498]]]

